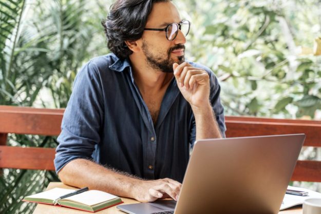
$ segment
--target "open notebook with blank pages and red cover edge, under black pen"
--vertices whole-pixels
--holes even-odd
[[[53,188],[26,196],[23,201],[54,205],[54,200],[73,192],[74,189]],[[121,198],[99,190],[89,190],[58,201],[55,206],[63,206],[88,212],[97,212],[123,203]]]

